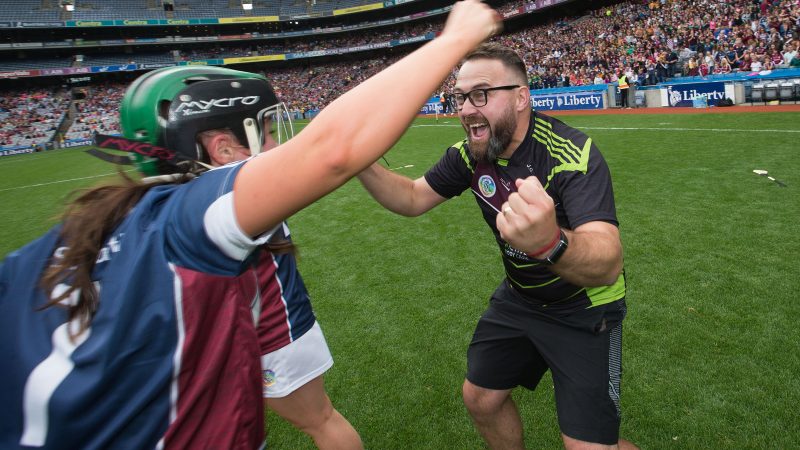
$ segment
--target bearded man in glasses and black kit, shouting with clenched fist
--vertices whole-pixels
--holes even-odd
[[[467,138],[411,180],[374,164],[359,175],[387,209],[417,216],[471,189],[495,235],[506,278],[467,353],[464,403],[491,448],[523,448],[510,393],[553,373],[564,445],[620,440],[622,245],[611,178],[583,133],[531,112],[525,64],[485,44],[455,84]]]

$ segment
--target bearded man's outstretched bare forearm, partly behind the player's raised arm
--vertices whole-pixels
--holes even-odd
[[[358,179],[384,208],[403,216],[416,217],[447,200],[425,177],[412,180],[377,163],[359,173]]]

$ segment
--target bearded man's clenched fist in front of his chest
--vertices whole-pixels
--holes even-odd
[[[497,215],[500,236],[533,257],[547,255],[558,243],[556,208],[536,177],[517,179],[517,192],[508,197]]]

